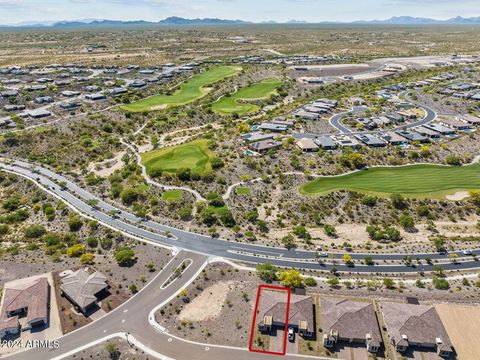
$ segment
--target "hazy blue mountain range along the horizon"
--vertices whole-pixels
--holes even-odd
[[[141,27],[141,26],[215,26],[215,25],[246,25],[257,24],[243,20],[226,20],[217,18],[186,19],[182,17],[168,17],[158,22],[145,20],[106,20],[106,19],[85,19],[76,21],[58,22],[23,22],[19,24],[0,25],[2,28],[24,28],[24,27],[48,27],[59,29],[74,28],[112,28],[112,27]],[[386,20],[359,20],[352,22],[319,21],[307,22],[304,20],[290,20],[287,22],[264,21],[258,24],[357,24],[357,25],[480,25],[479,17],[464,18],[457,16],[447,20],[437,20],[412,16],[395,16]]]

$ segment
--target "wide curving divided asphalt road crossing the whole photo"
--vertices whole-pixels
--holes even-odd
[[[426,258],[432,260],[444,260],[442,266],[445,270],[474,269],[480,268],[480,262],[471,257],[464,258],[461,252],[456,252],[458,261],[456,263],[448,260],[448,255],[438,253],[415,253],[409,254],[415,261],[417,258],[423,260],[415,267],[404,264],[385,264],[389,260],[402,260],[405,254],[370,254],[351,253],[354,260],[362,260],[366,255],[372,256],[376,262],[374,266],[355,265],[347,266],[343,263],[319,263],[315,259],[315,253],[303,250],[287,250],[285,248],[269,247],[258,244],[230,242],[223,239],[212,238],[206,235],[196,234],[180,230],[168,225],[163,225],[151,220],[145,220],[136,215],[120,210],[105,201],[85,191],[75,183],[60,174],[49,169],[34,166],[24,161],[0,161],[3,171],[21,175],[42,186],[52,195],[65,201],[70,207],[84,216],[94,218],[99,222],[119,230],[125,234],[145,239],[163,246],[176,247],[204,254],[212,257],[221,257],[232,261],[243,263],[273,263],[280,267],[295,267],[309,270],[331,270],[335,267],[338,271],[344,272],[365,272],[365,273],[411,273],[418,271],[431,271],[431,266],[425,263]],[[59,186],[62,184],[62,187]],[[88,200],[96,200],[95,207],[88,205]],[[167,236],[166,236],[167,235]],[[477,253],[480,249],[474,249]],[[330,257],[339,259],[344,253],[331,253]]]

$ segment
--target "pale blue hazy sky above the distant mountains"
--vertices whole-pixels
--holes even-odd
[[[352,21],[411,15],[480,16],[480,0],[0,0],[0,23],[168,16],[249,21]]]

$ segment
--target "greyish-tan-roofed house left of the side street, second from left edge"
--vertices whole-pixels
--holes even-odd
[[[90,274],[88,268],[72,272],[61,279],[60,293],[65,296],[76,309],[86,313],[97,305],[97,296],[108,288],[107,278],[100,272]]]

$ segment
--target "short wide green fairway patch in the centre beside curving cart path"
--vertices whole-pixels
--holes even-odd
[[[179,169],[204,174],[212,170],[210,159],[214,156],[208,149],[208,140],[195,140],[186,144],[153,150],[142,154],[142,164],[147,172],[161,170],[175,174]]]

